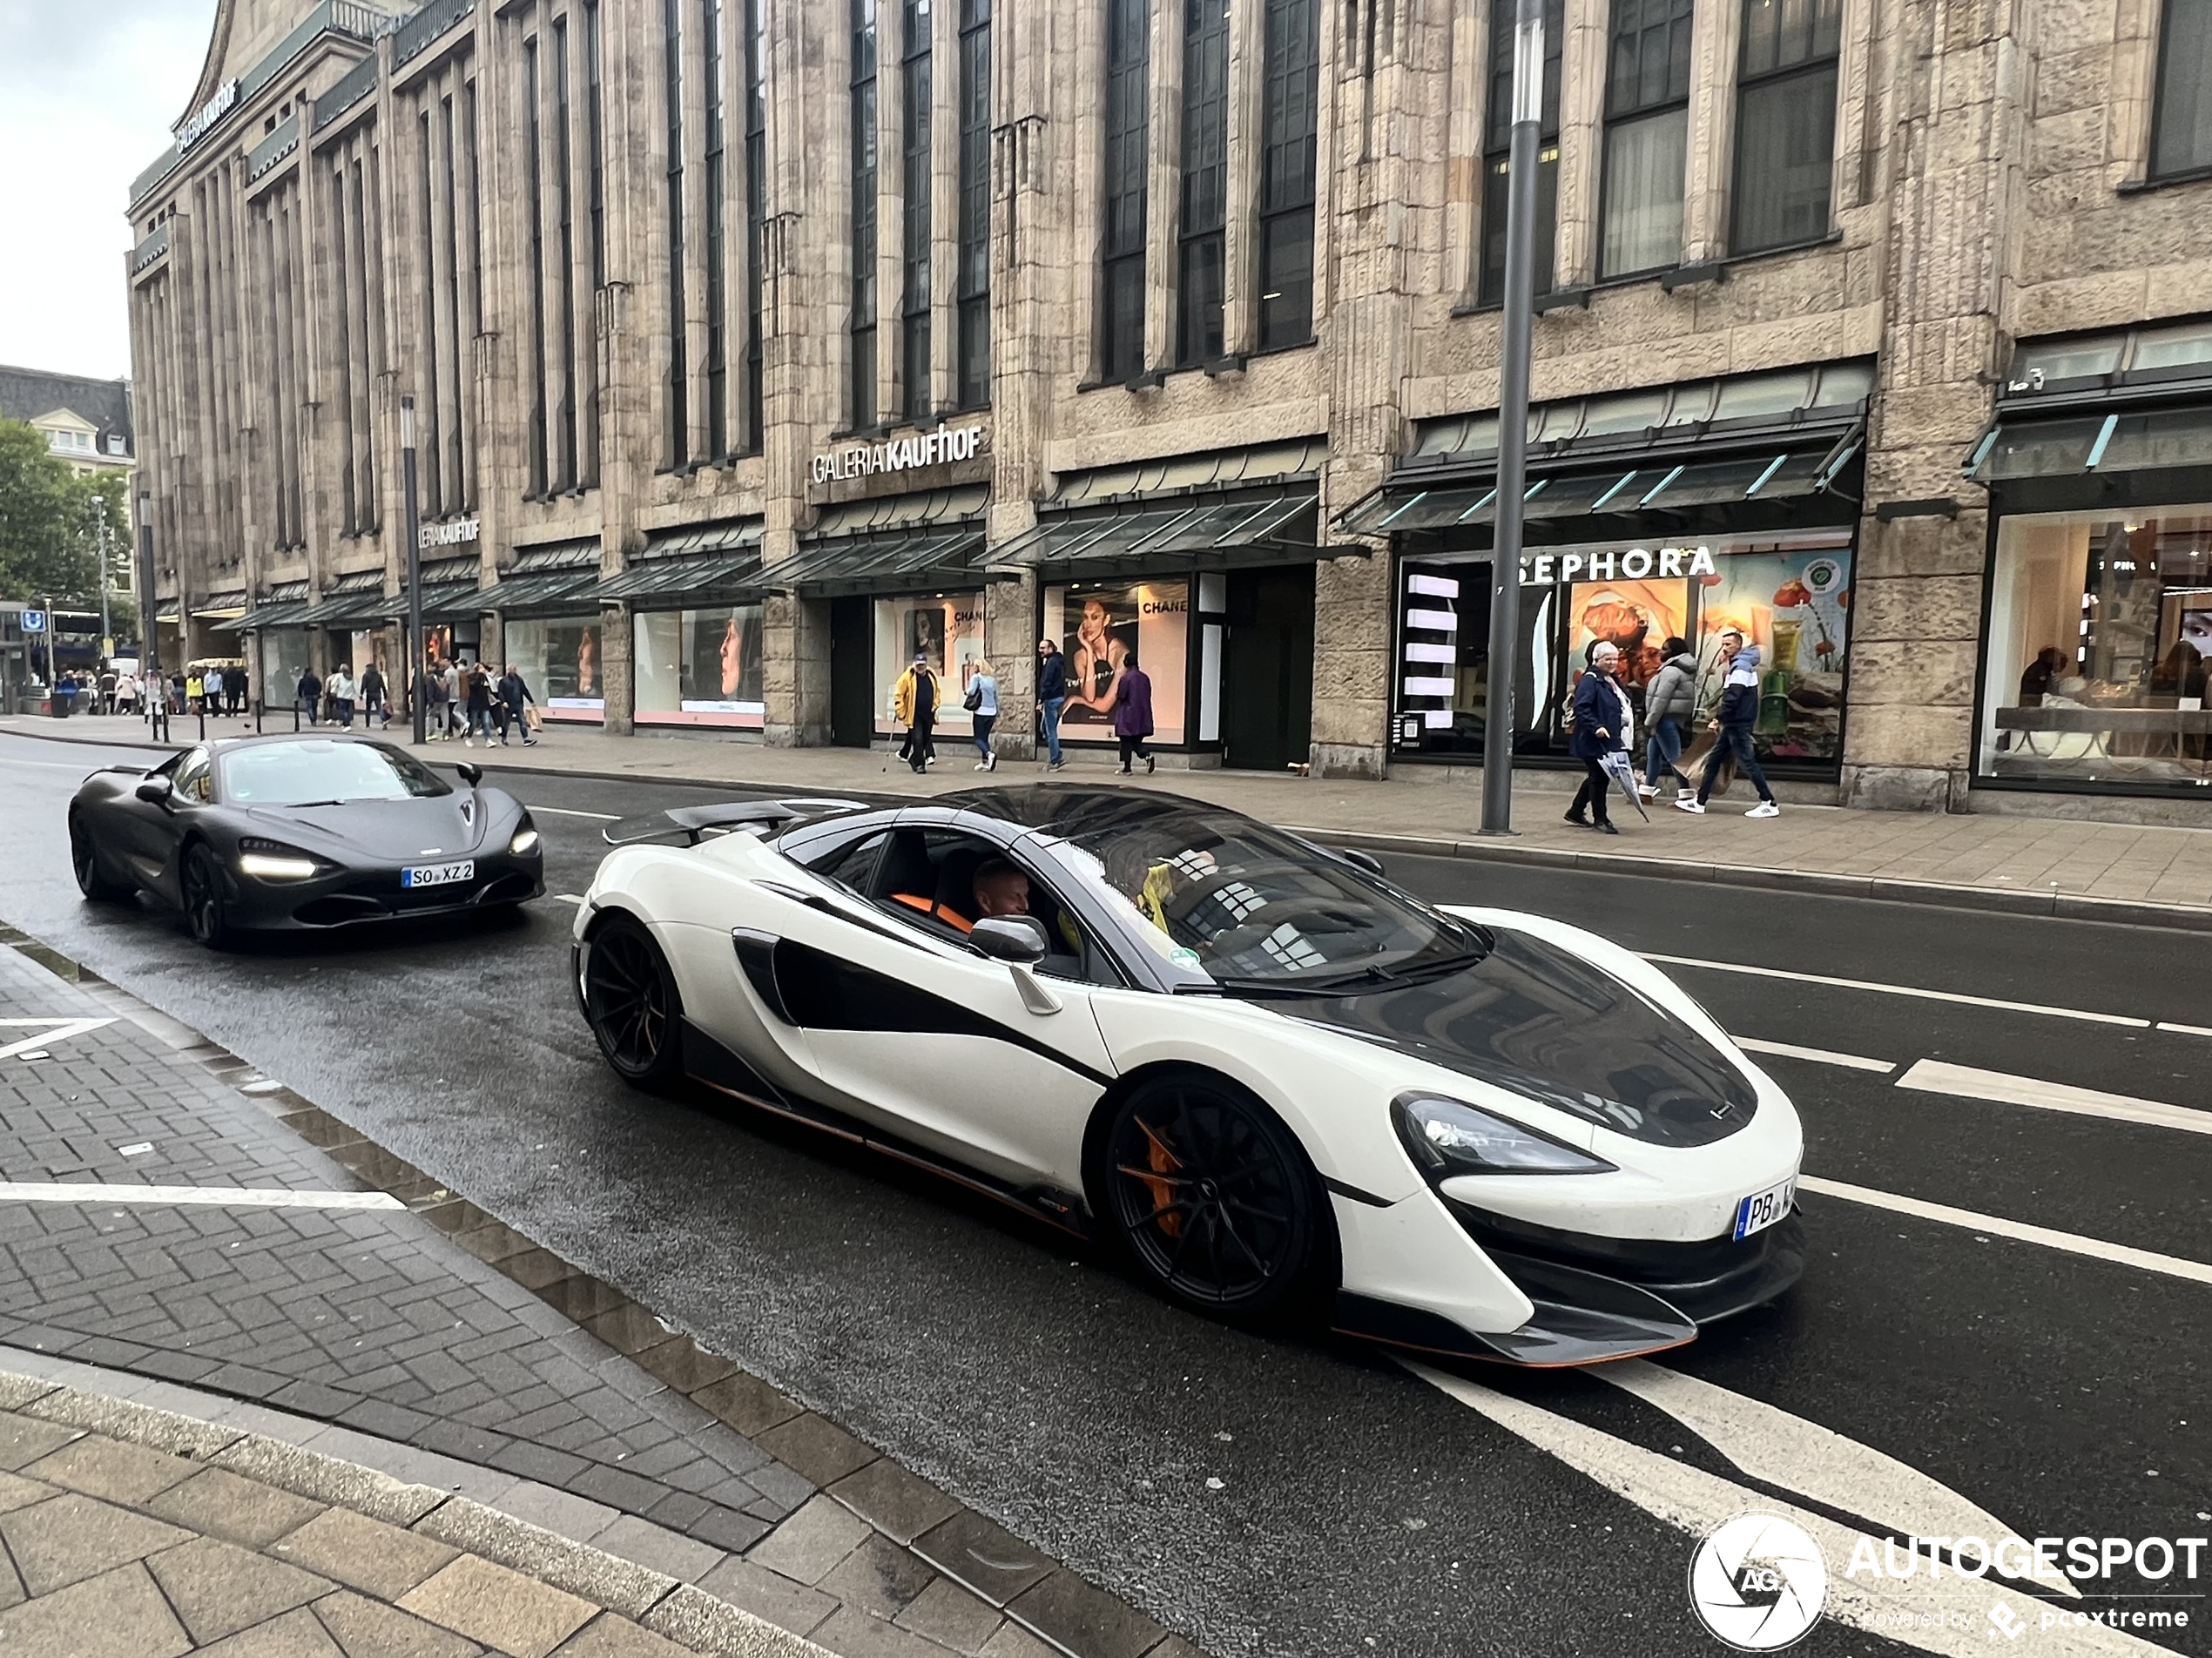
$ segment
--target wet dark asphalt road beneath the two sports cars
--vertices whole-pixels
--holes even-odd
[[[1190,1318],[927,1176],[624,1090],[566,988],[568,904],[549,898],[511,926],[239,955],[197,951],[153,909],[82,904],[62,814],[97,758],[0,736],[4,920],[1210,1651],[1719,1649],[1683,1594],[1690,1539],[1632,1479],[1593,1479],[1383,1353]],[[535,776],[513,791],[546,833],[551,893],[591,880],[593,814],[701,798]],[[1966,997],[1670,968],[1739,1037],[1887,1061],[1759,1054],[1803,1112],[1809,1176],[2088,1242],[1805,1196],[1805,1282],[1663,1364],[1770,1435],[1787,1419],[1761,1404],[1885,1452],[1949,1488],[1953,1512],[1973,1503],[2020,1536],[2212,1532],[2212,1282],[2084,1253],[2212,1262],[2212,1134],[1896,1081],[1940,1061],[2203,1110],[2212,1127],[2212,1035],[2154,1028],[2212,1026],[2201,935],[1449,860],[1400,858],[1391,873],[1438,902],[1526,906],[1659,955]],[[1601,1430],[1586,1437],[1624,1466],[1659,1452],[1778,1490],[1745,1477],[1741,1450],[1732,1466],[1719,1439],[1601,1377],[1469,1375],[1542,1406],[1568,1439]],[[1814,1466],[1827,1441],[1767,1444]],[[2212,1654],[2212,1601],[2139,1598],[2203,1596],[2212,1552],[2199,1570],[2190,1583],[2124,1567],[2070,1605],[2188,1609],[2188,1629],[2148,1638]],[[1971,1640],[2000,1640],[1980,1629],[1975,1587]],[[2031,1629],[2017,1651],[2051,1640]],[[1798,1651],[1929,1645],[1827,1623]]]

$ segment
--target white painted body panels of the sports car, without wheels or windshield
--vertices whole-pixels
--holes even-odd
[[[1046,791],[1020,791],[1031,802],[1037,796]],[[993,818],[973,802],[1013,798],[991,791],[967,807],[852,814],[781,840],[799,840],[801,856],[823,862],[812,849],[863,844],[854,827],[949,833]],[[1002,844],[1033,880],[1053,884],[1046,849],[1060,842],[1000,822]],[[1307,851],[1314,860],[1336,858]],[[1803,1154],[1790,1099],[1652,964],[1540,915],[1453,911],[1528,959],[1564,953],[1586,964],[1613,982],[1635,1019],[1694,1032],[1741,1079],[1741,1096],[1756,1101],[1736,1110],[1741,1125],[1710,1143],[1652,1143],[1471,1074],[1464,1063],[1440,1063],[1418,1041],[1356,1035],[1314,1017],[1312,1001],[1181,995],[991,959],[896,904],[869,902],[794,862],[765,831],[719,833],[690,847],[617,847],[577,911],[580,986],[591,940],[615,913],[641,922],[666,957],[690,1074],[933,1165],[1075,1231],[1099,1220],[1097,1169],[1086,1167],[1086,1156],[1102,1103],[1128,1079],[1168,1066],[1228,1079],[1281,1119],[1321,1176],[1340,1271],[1336,1324],[1358,1335],[1522,1364],[1624,1357],[1692,1340],[1697,1324],[1772,1300],[1801,1271],[1794,1220],[1761,1238],[1732,1238],[1754,1194],[1781,1187],[1772,1203],[1778,1216],[1790,1209]],[[801,957],[834,957],[838,966],[823,968],[830,973],[878,975],[836,979],[847,990],[894,982],[911,986],[918,1001],[909,1006],[900,990],[849,995],[854,1004],[880,1004],[880,1017],[843,1004],[801,1017],[785,1006],[787,982],[779,977]],[[1433,1019],[1442,995],[1416,1006]],[[1604,1032],[1588,1032],[1588,1041],[1604,1046]],[[1557,1039],[1553,1050],[1562,1063],[1573,1059]],[[1436,1178],[1416,1167],[1394,1130],[1391,1103],[1407,1096],[1460,1101],[1613,1167]],[[1613,1269],[1597,1271],[1615,1258],[1632,1265],[1624,1271],[1637,1282],[1624,1287]],[[1679,1271],[1668,1267],[1677,1258]],[[1666,1289],[1688,1282],[1681,1271],[1694,1278],[1708,1267],[1725,1284],[1697,1291],[1703,1311],[1668,1302],[1670,1320],[1646,1304],[1657,1293],[1648,1289],[1655,1273]]]

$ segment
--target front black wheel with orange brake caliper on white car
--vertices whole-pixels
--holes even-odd
[[[1241,1088],[1146,1083],[1115,1110],[1104,1158],[1113,1227],[1175,1300],[1252,1318],[1312,1287],[1327,1225],[1321,1180],[1281,1119]]]

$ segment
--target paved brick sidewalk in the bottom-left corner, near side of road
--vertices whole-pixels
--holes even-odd
[[[352,1468],[349,1477],[369,1490],[398,1481],[440,1503],[398,1519],[383,1514],[392,1523],[422,1530],[431,1512],[482,1512],[507,1528],[551,1534],[546,1559],[582,1547],[628,1572],[630,1598],[595,1598],[540,1572],[588,1603],[560,1601],[575,1616],[544,1640],[445,1618],[449,1629],[498,1651],[668,1651],[597,1634],[606,1623],[599,1607],[701,1651],[1194,1651],[192,1030],[18,933],[0,928],[0,946],[13,946],[0,948],[0,1019],[9,1021],[0,1024],[0,1373],[80,1386],[86,1373],[51,1366],[100,1366],[144,1404],[283,1448],[230,1472],[283,1483],[268,1468],[290,1466],[296,1450]],[[4,1397],[0,1408],[11,1408]],[[100,1421],[77,1426],[106,1433]],[[7,1441],[9,1424],[0,1421],[0,1446]],[[33,1455],[44,1452],[24,1461]],[[179,1455],[206,1461],[215,1452]],[[159,1470],[175,1479],[91,1494],[159,1514],[148,1505],[168,1486],[181,1488],[190,1468],[164,1461]],[[40,1490],[0,1477],[0,1510],[82,1503],[66,1494],[75,1490],[66,1479],[31,1477]],[[49,1497],[46,1486],[62,1494]],[[327,1492],[307,1494],[327,1501]],[[186,1634],[204,1645],[217,1640],[186,1616],[164,1576],[164,1550],[184,1550],[188,1539],[148,1532],[146,1523],[86,1521],[86,1536],[106,1525],[166,1539],[117,1554],[102,1570],[144,1559]],[[80,1581],[33,1583],[11,1525],[0,1514],[0,1545],[33,1596],[29,1607]],[[511,1541],[511,1530],[502,1532],[504,1556],[473,1536],[440,1536],[524,1572],[538,1559]],[[252,1547],[263,1550],[263,1541]],[[208,1559],[215,1565],[195,1567],[208,1578],[208,1596],[248,1596],[263,1581],[299,1589],[301,1598],[272,1603],[265,1618],[310,1601],[321,1607],[319,1596],[336,1592],[234,1554]],[[223,1563],[237,1567],[234,1587],[221,1583]],[[447,1565],[440,1554],[438,1570]],[[347,1581],[336,1565],[314,1570]],[[436,1578],[425,1578],[385,1598],[405,1607],[409,1594],[429,1596]],[[146,1585],[131,1583],[144,1598]],[[639,1601],[637,1583],[659,1587]],[[690,1589],[677,1598],[681,1585]],[[721,1607],[712,1612],[719,1623],[701,1623],[708,1612],[697,1607],[690,1623],[677,1620],[692,1589]],[[0,1605],[11,1594],[0,1563]],[[168,1631],[153,1601],[146,1607],[144,1627]],[[276,1634],[268,1636],[274,1645],[257,1645],[257,1634],[221,1651],[476,1651],[451,1643],[354,1647],[332,1634],[321,1612],[316,1625],[294,1620],[283,1636],[292,1645]],[[316,1645],[323,1636],[336,1645]],[[170,1645],[148,1638],[84,1651],[122,1658],[190,1649],[175,1645],[173,1631],[161,1640]],[[13,1649],[0,1620],[0,1651]],[[31,1643],[24,1651],[44,1658],[75,1647]]]

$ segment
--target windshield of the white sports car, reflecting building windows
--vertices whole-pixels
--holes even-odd
[[[1234,811],[1148,814],[1062,847],[1146,944],[1223,986],[1356,988],[1486,948],[1449,915]]]

